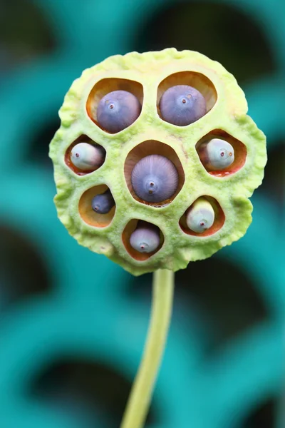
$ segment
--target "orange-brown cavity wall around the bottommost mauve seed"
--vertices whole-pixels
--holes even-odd
[[[153,225],[152,223],[143,222],[144,223],[143,225],[145,225],[146,227],[148,225],[150,228],[157,229],[159,233],[159,244],[157,248],[155,248],[155,250],[150,253],[141,253],[140,251],[135,250],[135,248],[133,248],[133,246],[130,244],[130,239],[132,234],[135,232],[135,230],[138,230],[138,228],[140,228],[141,222],[142,220],[138,220],[138,219],[130,220],[128,224],[125,226],[125,229],[123,230],[122,240],[123,240],[123,244],[125,245],[125,249],[131,255],[131,257],[133,257],[135,260],[143,262],[144,260],[149,259],[152,255],[157,253],[157,251],[159,251],[160,248],[162,248],[165,238],[161,230],[156,225]],[[143,243],[141,247],[144,247]],[[144,250],[144,248],[142,248],[142,250]]]

